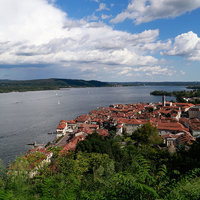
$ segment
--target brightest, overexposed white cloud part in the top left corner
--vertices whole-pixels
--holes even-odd
[[[41,44],[63,37],[66,13],[46,0],[0,0],[0,41]]]

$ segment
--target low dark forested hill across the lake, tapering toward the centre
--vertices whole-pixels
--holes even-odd
[[[39,79],[39,80],[25,80],[25,81],[0,81],[0,93],[5,92],[24,92],[24,91],[38,91],[38,90],[57,90],[60,88],[70,87],[107,87],[111,84],[100,81],[85,81],[76,79]]]

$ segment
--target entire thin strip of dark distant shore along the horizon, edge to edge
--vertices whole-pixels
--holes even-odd
[[[200,82],[101,82],[76,79],[0,80],[0,93],[60,90],[62,88],[129,87],[129,86],[183,86],[199,88]]]

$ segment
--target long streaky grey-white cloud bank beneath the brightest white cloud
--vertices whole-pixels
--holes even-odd
[[[108,65],[153,65],[157,59],[146,55],[140,47],[151,40],[144,37],[156,33],[129,34],[113,31],[102,24],[85,23],[82,27],[65,30],[69,37],[50,40],[42,45],[27,42],[2,43],[0,63],[63,63],[87,62]],[[139,43],[138,43],[139,41]]]

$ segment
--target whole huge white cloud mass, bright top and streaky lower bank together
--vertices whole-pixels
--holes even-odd
[[[72,20],[48,0],[0,0],[0,5],[0,65],[86,67],[87,73],[98,67],[112,73],[157,66],[153,53],[171,46],[158,40],[157,29],[131,34],[102,22]]]

